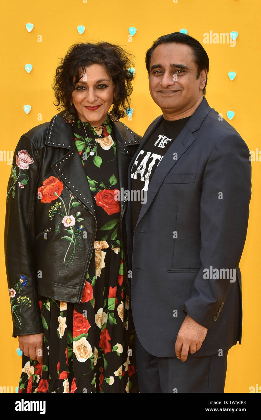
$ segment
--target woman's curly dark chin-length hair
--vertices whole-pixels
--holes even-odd
[[[109,42],[82,42],[72,45],[56,69],[52,88],[58,110],[67,110],[75,119],[78,114],[71,102],[71,92],[80,77],[85,73],[85,67],[100,64],[106,68],[115,89],[114,114],[117,118],[126,116],[126,109],[130,108],[132,80],[134,75],[128,68],[134,67],[134,55],[127,53],[118,45]],[[73,82],[75,76],[75,81]],[[60,105],[60,106],[59,106]]]

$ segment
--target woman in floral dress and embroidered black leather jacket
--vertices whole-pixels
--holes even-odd
[[[129,107],[130,67],[116,45],[73,45],[53,84],[65,111],[23,134],[16,147],[5,261],[13,337],[23,351],[19,392],[137,390],[127,203],[117,194],[127,189],[140,142],[118,122]]]

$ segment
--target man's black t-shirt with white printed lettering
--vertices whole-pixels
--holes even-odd
[[[153,173],[163,159],[166,150],[168,150],[187,121],[189,121],[189,118],[190,116],[175,121],[168,121],[163,118],[163,121],[147,139],[132,165],[131,189],[136,191],[135,195],[133,195],[135,199],[131,199],[133,231]],[[140,192],[140,194],[137,194],[137,192]],[[140,199],[137,199],[139,197]]]

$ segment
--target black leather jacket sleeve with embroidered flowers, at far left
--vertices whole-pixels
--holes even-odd
[[[5,267],[13,319],[13,337],[42,333],[34,263],[34,203],[39,153],[21,136],[13,157],[5,213]]]

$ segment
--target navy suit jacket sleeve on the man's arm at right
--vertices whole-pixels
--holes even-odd
[[[250,198],[248,147],[238,134],[227,134],[213,148],[204,170],[200,202],[201,268],[191,297],[183,307],[191,318],[209,329],[218,327],[215,314],[220,305],[226,304],[230,288],[237,287],[236,278],[232,279],[224,269],[232,269],[230,273],[235,275],[238,268]],[[217,270],[214,274],[214,269],[218,269],[219,275]]]

